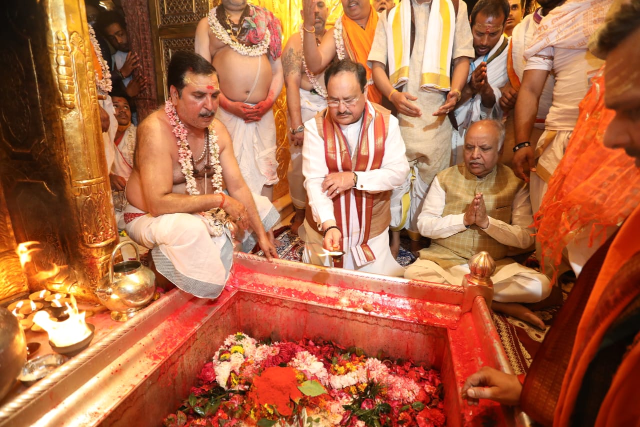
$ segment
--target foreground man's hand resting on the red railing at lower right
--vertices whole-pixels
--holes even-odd
[[[462,387],[462,398],[468,405],[477,405],[478,399],[490,399],[502,405],[518,405],[522,384],[518,377],[484,366],[472,374]]]

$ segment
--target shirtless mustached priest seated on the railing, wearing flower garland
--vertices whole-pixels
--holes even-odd
[[[252,196],[229,134],[214,119],[220,87],[211,63],[193,52],[173,54],[167,87],[164,109],[138,126],[126,230],[152,248],[157,271],[177,287],[215,298],[228,277],[234,240],[245,251],[257,241],[269,260],[277,257],[265,230],[278,213],[266,197]]]

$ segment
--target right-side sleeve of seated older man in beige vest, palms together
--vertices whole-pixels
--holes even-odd
[[[511,224],[489,217],[489,226],[484,231],[504,245],[524,249],[531,246],[535,239],[532,235],[534,230],[529,228],[532,222],[529,186],[524,185],[513,197]]]

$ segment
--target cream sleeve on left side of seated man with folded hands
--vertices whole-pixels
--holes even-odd
[[[440,181],[436,176],[429,187],[422,212],[418,217],[418,231],[420,235],[431,239],[444,239],[460,231],[467,230],[464,224],[464,213],[446,215],[442,217],[445,205],[445,192],[440,187]]]

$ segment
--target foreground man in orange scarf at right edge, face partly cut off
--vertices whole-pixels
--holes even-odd
[[[632,113],[640,108],[640,57],[629,55],[640,44],[640,1],[627,3],[598,31],[598,56],[607,60],[605,105],[616,112],[605,146],[625,149],[640,167],[640,121]],[[483,367],[467,379],[463,398],[520,404],[545,426],[637,425],[639,227],[636,207],[584,266],[524,378]]]

